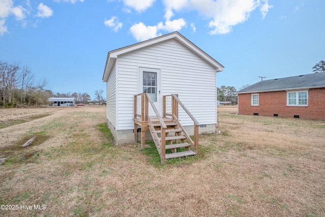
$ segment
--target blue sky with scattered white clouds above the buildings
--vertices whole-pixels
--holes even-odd
[[[239,90],[312,73],[325,60],[324,11],[323,0],[0,0],[0,60],[93,100],[108,51],[177,30],[225,67],[218,87]]]

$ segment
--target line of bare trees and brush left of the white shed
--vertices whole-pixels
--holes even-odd
[[[77,93],[53,94],[46,89],[46,78],[35,81],[36,76],[27,67],[20,67],[19,63],[12,64],[0,60],[0,107],[30,107],[47,105],[50,97],[75,98],[76,103],[88,103],[89,94]],[[95,100],[104,103],[103,90],[95,90]]]

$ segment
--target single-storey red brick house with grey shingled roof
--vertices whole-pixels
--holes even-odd
[[[325,73],[259,81],[238,94],[238,114],[325,120]]]

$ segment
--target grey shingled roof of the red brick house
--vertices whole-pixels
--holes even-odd
[[[237,93],[247,94],[253,92],[298,90],[320,87],[325,87],[325,73],[313,73],[307,75],[259,81],[242,90],[239,90]]]

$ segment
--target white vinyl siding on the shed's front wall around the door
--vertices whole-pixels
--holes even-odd
[[[117,130],[133,129],[134,95],[142,92],[138,87],[139,68],[160,70],[160,94],[178,94],[186,108],[201,124],[216,121],[216,70],[197,54],[175,39],[136,50],[118,57]],[[167,107],[170,104],[167,104]],[[160,114],[162,108],[158,108]],[[179,119],[184,126],[193,121],[179,106]]]

